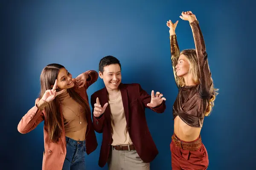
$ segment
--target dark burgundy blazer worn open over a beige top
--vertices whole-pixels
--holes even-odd
[[[151,134],[145,117],[145,108],[151,101],[151,96],[144,91],[140,84],[120,84],[122,102],[125,111],[125,119],[127,122],[128,133],[134,144],[140,158],[145,162],[151,162],[158,154],[158,150]],[[96,98],[99,97],[101,105],[108,102],[108,91],[103,88],[96,91],[91,96],[91,105],[94,109]],[[150,108],[157,113],[163,113],[166,109],[165,101],[156,108]],[[92,111],[93,115],[93,111]],[[103,133],[102,146],[99,156],[99,166],[104,167],[108,160],[108,155],[112,143],[111,134],[111,111],[110,106],[105,110],[100,118],[93,116],[93,127],[96,132]]]

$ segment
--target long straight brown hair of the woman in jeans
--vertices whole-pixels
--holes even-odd
[[[44,95],[45,91],[52,89],[51,85],[54,85],[55,79],[58,77],[58,73],[61,68],[64,68],[63,65],[60,64],[49,64],[47,65],[41,72],[40,82],[41,82],[41,92],[40,98]],[[56,89],[58,91],[58,89]],[[85,113],[90,112],[90,107],[84,99],[76,93],[74,88],[67,89],[67,92],[70,94],[72,99],[78,102],[85,110]],[[61,136],[62,128],[61,128],[61,114],[59,111],[59,102],[58,96],[55,97],[52,102],[44,108],[46,113],[46,126],[47,132],[49,133],[49,141],[58,142],[58,138]]]

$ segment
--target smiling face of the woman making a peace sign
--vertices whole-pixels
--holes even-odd
[[[73,88],[74,82],[72,81],[72,74],[66,68],[61,68],[57,77],[57,86],[59,91],[67,88]]]

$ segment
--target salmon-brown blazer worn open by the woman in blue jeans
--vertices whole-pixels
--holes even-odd
[[[88,102],[88,96],[87,96],[87,88],[96,82],[98,79],[98,73],[96,71],[86,71],[85,74],[87,74],[90,78],[87,79],[86,84],[84,85],[84,88],[78,88],[77,86],[74,86],[76,92],[86,101]],[[73,79],[73,81],[75,81]],[[76,84],[76,83],[75,83]],[[37,125],[42,122],[43,120],[47,119],[45,111],[41,111],[37,108],[36,104],[40,99],[36,99],[35,106],[31,108],[25,116],[20,120],[20,123],[18,125],[18,131],[20,133],[28,133],[31,130],[35,129]],[[61,104],[59,104],[60,113],[61,113],[61,127],[63,130],[63,133],[61,134],[61,137],[58,139],[57,143],[49,142],[49,133],[47,132],[47,126],[46,121],[44,121],[44,156],[43,156],[43,166],[42,170],[61,170],[62,166],[64,164],[64,160],[67,153],[66,148],[66,138],[65,138],[65,129],[64,129],[64,121],[63,121],[63,115],[62,115],[62,109]],[[96,150],[96,147],[98,146],[96,135],[93,129],[93,124],[91,121],[91,114],[86,114],[86,119],[88,122],[87,130],[86,130],[86,152],[89,155],[94,150]]]

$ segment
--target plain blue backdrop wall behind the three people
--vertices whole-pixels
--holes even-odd
[[[252,1],[84,0],[2,1],[1,11],[1,152],[0,169],[41,169],[43,123],[22,135],[17,124],[34,105],[41,70],[49,63],[64,65],[76,77],[98,71],[106,55],[122,64],[122,82],[140,83],[150,94],[166,97],[166,111],[146,110],[159,155],[151,170],[170,170],[173,133],[172,105],[177,95],[166,21],[179,20],[180,49],[195,48],[182,11],[196,14],[206,42],[209,66],[219,95],[201,131],[209,154],[209,170],[256,168],[255,14]],[[88,89],[103,88],[101,79]],[[86,157],[88,170],[98,166],[97,150]],[[107,170],[105,166],[102,168]]]

